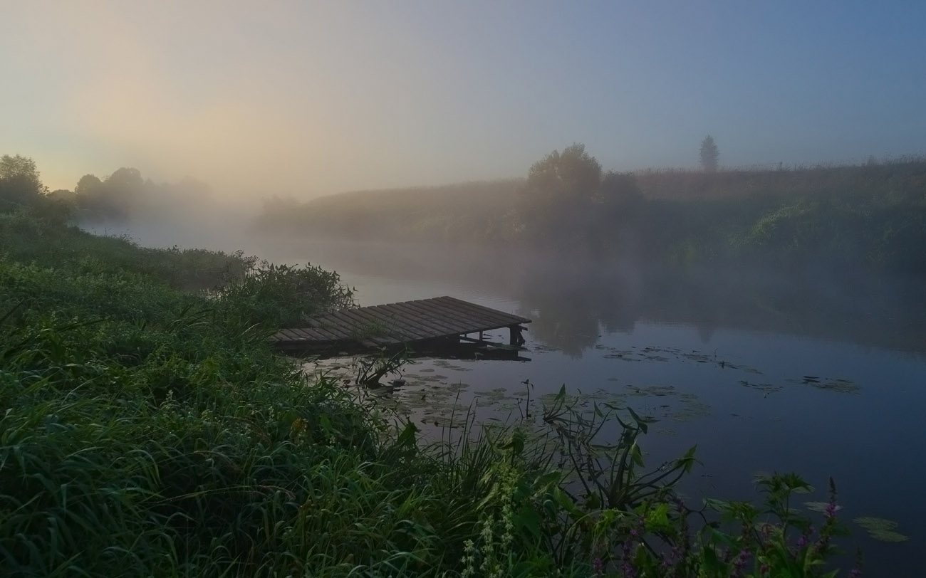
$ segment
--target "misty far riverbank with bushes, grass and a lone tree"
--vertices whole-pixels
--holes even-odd
[[[708,149],[706,160],[716,161]],[[606,173],[582,145],[572,145],[534,164],[524,181],[278,200],[257,226],[289,235],[506,243],[675,265],[825,264],[926,275],[926,159],[709,168]]]

